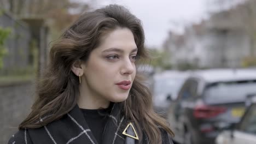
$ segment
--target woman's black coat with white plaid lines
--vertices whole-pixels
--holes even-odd
[[[124,116],[120,116],[118,104],[114,104],[108,116],[102,135],[102,144],[125,144],[126,136],[123,131],[128,124]],[[40,119],[43,121],[44,118]],[[76,143],[98,144],[86,123],[82,111],[78,105],[61,119],[37,129],[22,129],[11,136],[8,144],[45,144],[45,143]],[[138,143],[138,140],[135,140]],[[143,136],[142,143],[148,143],[147,137]],[[172,140],[162,130],[162,143],[172,144]]]

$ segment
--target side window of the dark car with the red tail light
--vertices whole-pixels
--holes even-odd
[[[188,99],[191,97],[196,96],[196,89],[197,89],[198,82],[196,80],[189,79],[187,80],[181,92],[179,93],[179,99]]]

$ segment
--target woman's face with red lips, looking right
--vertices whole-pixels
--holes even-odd
[[[124,101],[136,75],[137,46],[133,34],[130,29],[117,28],[104,35],[101,42],[82,65],[85,97]]]

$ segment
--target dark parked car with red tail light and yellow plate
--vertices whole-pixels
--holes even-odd
[[[220,131],[238,123],[245,98],[256,93],[256,71],[246,69],[201,70],[184,82],[171,101],[167,121],[178,143],[211,144]]]

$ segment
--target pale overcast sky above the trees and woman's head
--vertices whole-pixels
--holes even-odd
[[[146,45],[161,47],[170,29],[180,31],[184,23],[206,15],[207,0],[97,0],[94,7],[116,3],[124,5],[142,20]]]

